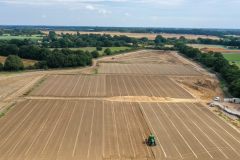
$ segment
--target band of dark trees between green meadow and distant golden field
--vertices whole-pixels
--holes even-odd
[[[43,46],[48,48],[77,48],[77,47],[120,47],[136,45],[138,40],[127,36],[111,36],[100,34],[61,34],[50,31],[43,38]]]

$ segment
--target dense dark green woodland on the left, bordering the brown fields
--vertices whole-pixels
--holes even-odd
[[[41,48],[36,45],[0,45],[0,55],[16,55],[20,58],[37,60],[36,68],[60,68],[86,66],[92,63],[92,54],[81,50]]]

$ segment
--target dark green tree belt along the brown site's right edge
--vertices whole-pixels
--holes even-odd
[[[177,43],[175,47],[185,56],[192,58],[219,73],[227,82],[229,92],[233,96],[240,97],[240,69],[238,66],[230,64],[221,53],[202,53],[199,49],[186,46],[183,43]]]

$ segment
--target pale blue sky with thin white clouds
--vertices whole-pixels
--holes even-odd
[[[240,29],[240,0],[0,0],[0,25]]]

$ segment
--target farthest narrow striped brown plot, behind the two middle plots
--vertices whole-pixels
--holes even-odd
[[[102,74],[201,75],[192,66],[178,64],[100,63],[99,66],[99,73]]]

